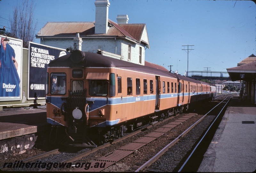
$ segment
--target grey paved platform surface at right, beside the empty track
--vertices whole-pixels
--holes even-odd
[[[233,97],[197,172],[256,170],[256,106]]]

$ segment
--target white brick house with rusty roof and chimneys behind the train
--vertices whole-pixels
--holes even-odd
[[[89,2],[89,1],[88,1]],[[40,43],[100,53],[144,65],[149,47],[146,24],[128,24],[128,15],[108,19],[109,0],[96,0],[94,22],[47,22],[36,34]]]

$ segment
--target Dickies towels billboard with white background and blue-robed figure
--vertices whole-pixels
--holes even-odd
[[[22,40],[0,35],[0,101],[21,100]]]

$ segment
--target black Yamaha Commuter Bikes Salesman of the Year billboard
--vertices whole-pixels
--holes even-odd
[[[64,49],[29,42],[28,99],[45,99],[48,64],[66,54]]]

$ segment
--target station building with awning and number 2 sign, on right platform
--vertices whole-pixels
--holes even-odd
[[[252,104],[256,104],[256,56],[251,54],[237,64],[237,67],[227,68],[232,81],[245,82],[244,92]]]

